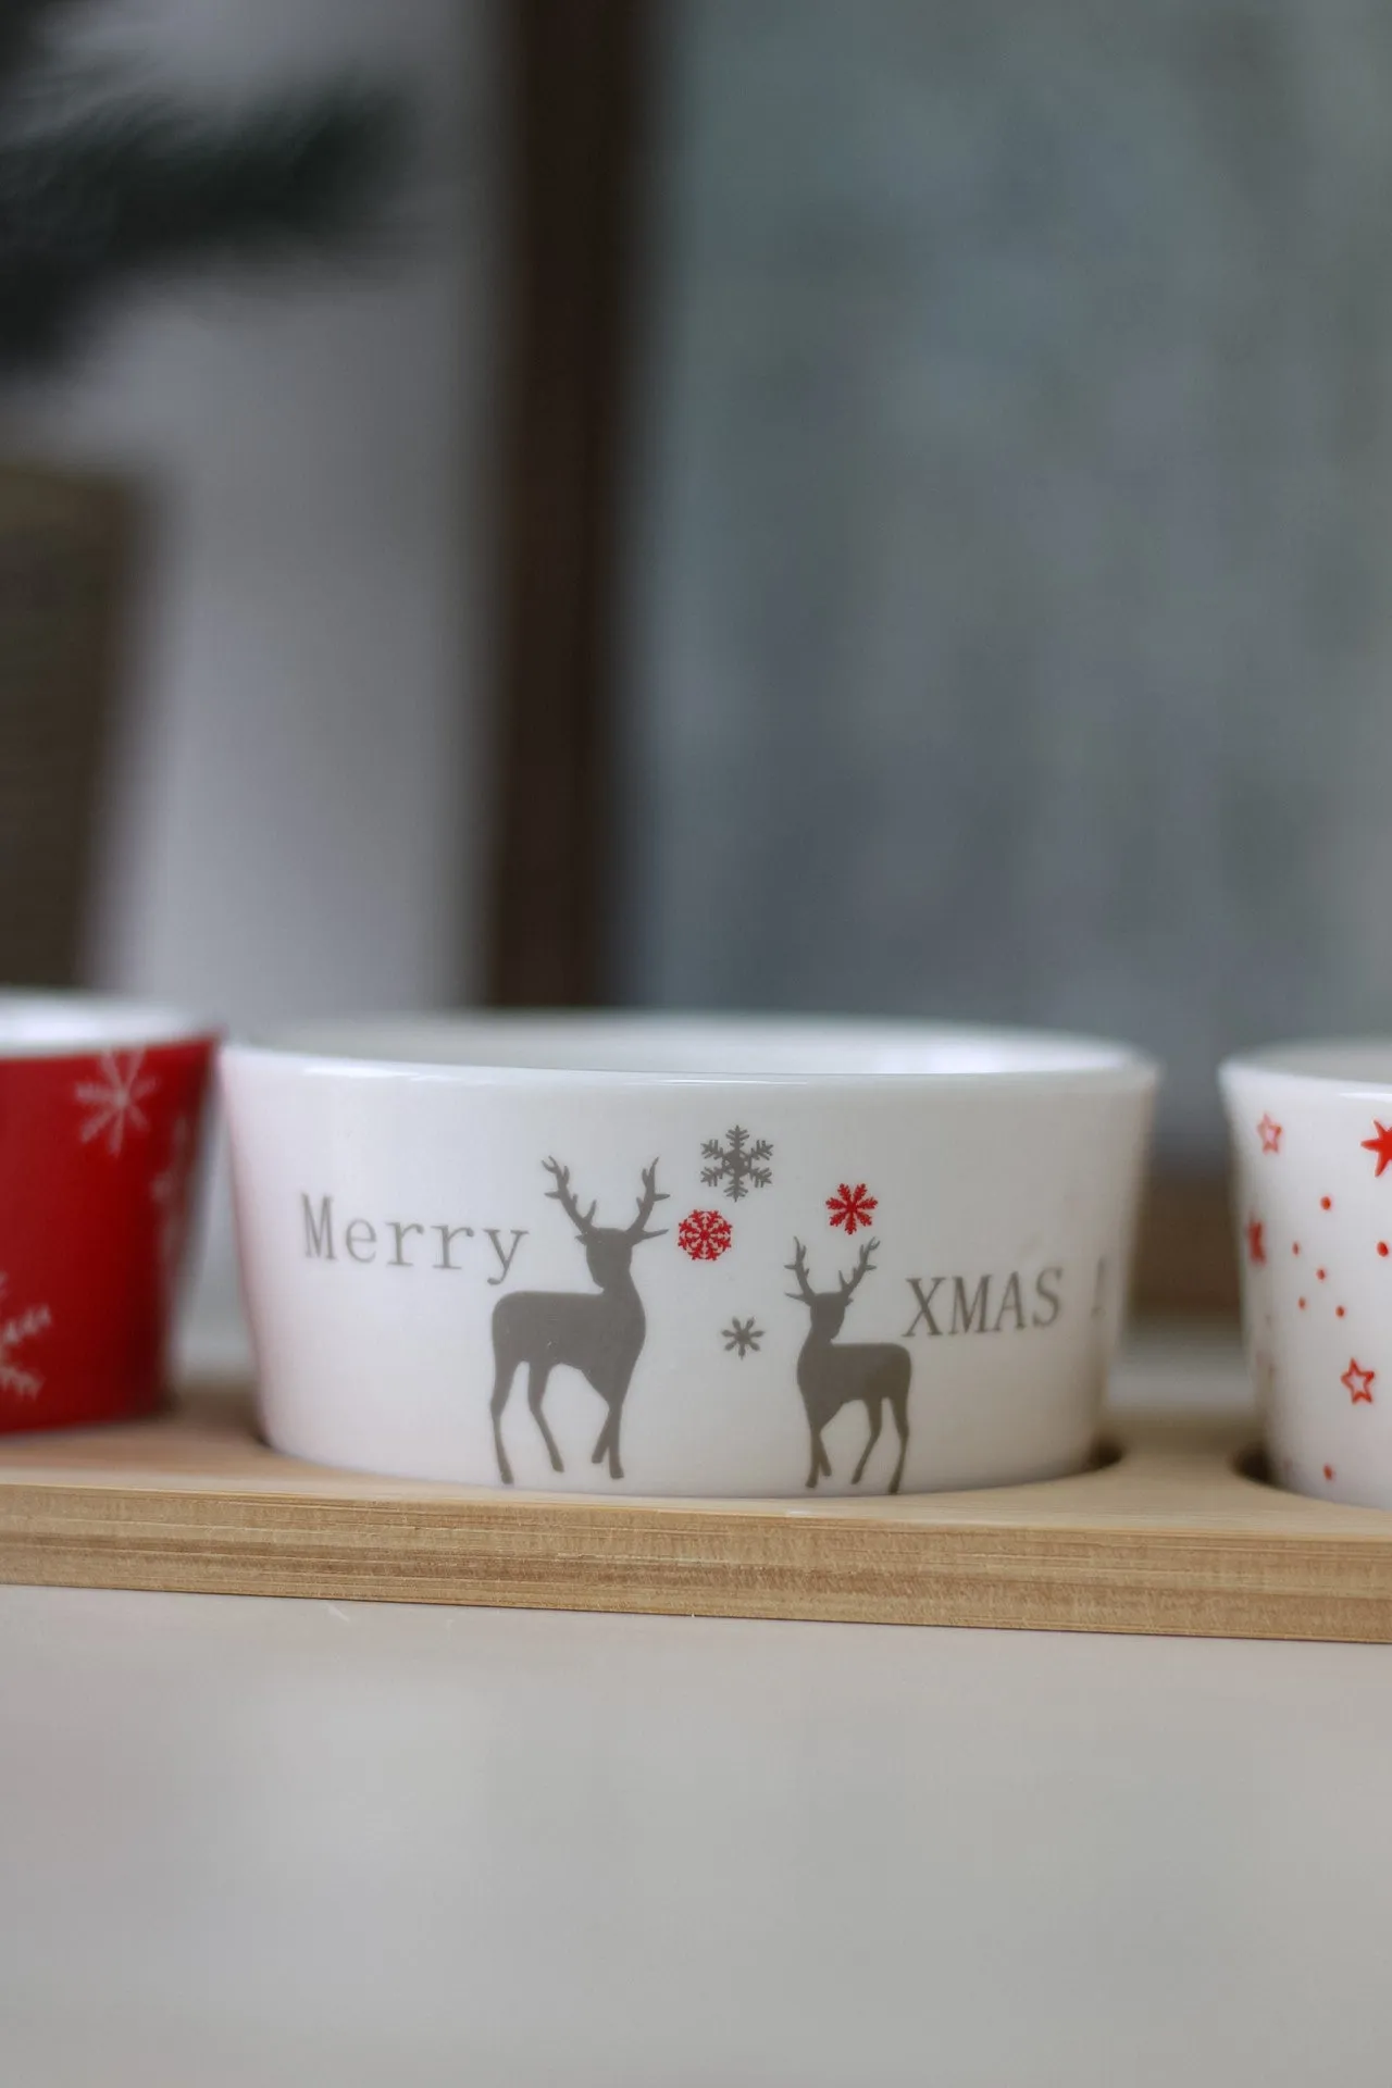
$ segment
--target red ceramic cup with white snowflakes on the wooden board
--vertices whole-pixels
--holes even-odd
[[[0,994],[0,1432],[163,1399],[215,1042],[163,1009]]]

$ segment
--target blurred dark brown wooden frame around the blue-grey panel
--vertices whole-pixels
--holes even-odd
[[[641,309],[655,0],[499,0],[505,123],[499,658],[488,1000],[607,998],[626,355]],[[1221,1178],[1160,1176],[1144,1309],[1231,1311]]]

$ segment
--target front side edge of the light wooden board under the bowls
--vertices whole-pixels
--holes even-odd
[[[670,1514],[403,1518],[267,1495],[13,1487],[0,1581],[319,1601],[1392,1643],[1392,1545],[1329,1535]],[[344,1512],[346,1510],[346,1512]],[[411,1518],[405,1518],[407,1522]]]

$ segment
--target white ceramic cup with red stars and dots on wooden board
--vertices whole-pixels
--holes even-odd
[[[1219,1077],[1271,1474],[1392,1508],[1392,1042],[1273,1046]]]

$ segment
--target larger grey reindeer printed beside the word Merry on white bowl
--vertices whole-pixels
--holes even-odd
[[[580,1209],[570,1190],[570,1167],[561,1167],[559,1161],[545,1161],[545,1167],[555,1178],[555,1188],[549,1188],[547,1196],[559,1203],[576,1228],[599,1290],[511,1290],[493,1307],[493,1443],[499,1453],[499,1478],[507,1487],[511,1487],[511,1464],[503,1449],[503,1407],[522,1363],[528,1366],[526,1403],[551,1455],[551,1470],[563,1472],[566,1466],[541,1403],[547,1397],[551,1372],[559,1363],[568,1363],[589,1378],[609,1407],[591,1464],[599,1464],[607,1455],[609,1476],[624,1476],[618,1428],[628,1380],[647,1334],[643,1299],[634,1288],[628,1263],[641,1240],[659,1240],[666,1232],[666,1226],[659,1226],[657,1232],[645,1230],[653,1207],[668,1201],[666,1190],[657,1188],[657,1161],[643,1169],[639,1215],[632,1226],[624,1228],[597,1226],[595,1205],[589,1211]]]

